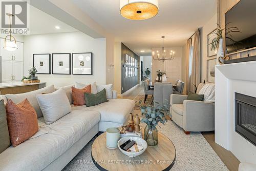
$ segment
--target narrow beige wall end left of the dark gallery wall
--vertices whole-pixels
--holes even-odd
[[[114,64],[115,64],[115,69],[114,69],[114,90],[117,91],[118,94],[121,94],[121,52],[122,52],[122,47],[121,47],[121,42],[116,42],[115,43],[115,57],[114,57]]]

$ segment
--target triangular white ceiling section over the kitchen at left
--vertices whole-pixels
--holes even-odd
[[[77,31],[73,27],[57,20],[51,15],[29,5],[29,29],[31,34],[50,34]],[[59,26],[60,29],[56,29]]]

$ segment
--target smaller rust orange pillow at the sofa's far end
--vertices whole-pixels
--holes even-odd
[[[92,85],[88,85],[86,87],[83,87],[82,89],[78,89],[75,87],[72,87],[72,97],[73,97],[73,103],[74,106],[81,106],[86,104],[86,100],[84,99],[84,92],[91,93]]]

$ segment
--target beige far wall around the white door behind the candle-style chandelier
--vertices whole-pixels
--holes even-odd
[[[153,48],[152,51],[159,51],[160,56],[162,55],[162,48]],[[185,77],[183,77],[183,73],[185,72],[186,68],[183,68],[185,66],[184,56],[183,56],[183,48],[182,47],[166,47],[165,50],[168,52],[170,50],[174,50],[176,55],[175,58],[180,58],[182,60],[182,68],[181,68],[181,80],[185,80]],[[155,81],[157,77],[157,70],[164,71],[164,62],[162,61],[155,61],[152,59],[152,81]]]

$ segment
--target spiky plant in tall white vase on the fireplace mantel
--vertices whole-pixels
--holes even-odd
[[[238,27],[227,27],[227,25],[230,23],[226,24],[226,35],[225,38],[232,41],[233,45],[234,43],[236,43],[237,41],[234,41],[232,39],[232,35],[231,33],[234,32],[240,32],[241,31],[238,29]],[[223,50],[223,36],[222,36],[222,28],[219,24],[217,24],[217,28],[216,28],[216,32],[213,32],[212,34],[215,34],[216,37],[214,37],[214,39],[212,39],[212,41],[210,42],[209,45],[211,45],[211,50],[217,50],[217,65],[224,62],[224,50]]]

